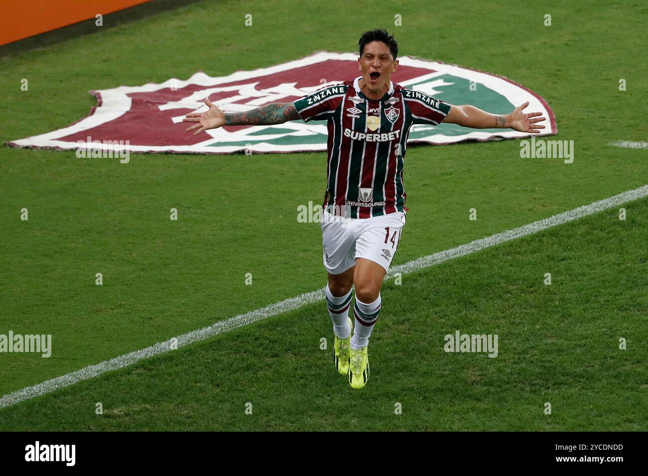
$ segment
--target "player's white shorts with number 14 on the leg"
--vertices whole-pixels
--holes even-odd
[[[321,220],[324,267],[332,275],[339,275],[355,266],[356,258],[366,258],[387,271],[399,247],[404,225],[404,212],[346,218],[324,210]]]

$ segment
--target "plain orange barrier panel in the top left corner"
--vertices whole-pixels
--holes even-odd
[[[150,0],[0,0],[0,45]]]

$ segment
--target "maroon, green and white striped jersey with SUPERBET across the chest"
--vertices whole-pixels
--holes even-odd
[[[402,173],[410,128],[436,126],[450,105],[393,82],[382,99],[369,99],[359,81],[330,85],[294,101],[305,122],[328,121],[323,207],[349,218],[406,211]]]

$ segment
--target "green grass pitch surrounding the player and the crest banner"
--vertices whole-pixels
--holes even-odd
[[[621,1],[206,0],[113,27],[107,16],[0,58],[0,142],[84,117],[90,89],[356,51],[386,27],[400,54],[533,89],[575,146],[572,164],[521,159],[518,141],[411,147],[397,265],[647,183],[648,151],[609,145],[647,137],[647,17]],[[296,217],[321,201],[325,167],[325,153],[120,164],[0,147],[0,334],[53,341],[49,359],[0,354],[0,395],[323,287],[319,225]],[[648,200],[625,208],[625,221],[607,210],[386,284],[363,391],[334,371],[320,302],[2,409],[0,430],[646,430]],[[500,355],[446,354],[455,330],[498,334]]]

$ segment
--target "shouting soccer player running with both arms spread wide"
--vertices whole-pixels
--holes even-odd
[[[473,106],[446,104],[391,82],[399,66],[399,47],[384,29],[365,32],[358,44],[362,76],[352,81],[241,113],[223,113],[205,98],[207,111],[183,119],[196,122],[187,128],[194,135],[222,126],[327,121],[328,185],[321,221],[329,277],[326,299],[335,334],[334,364],[354,389],[362,389],[369,378],[367,346],[380,313],[380,288],[405,224],[402,174],[411,126],[450,122],[539,133],[544,126],[537,122],[545,120],[541,113],[523,112],[528,102],[510,114],[495,115]]]

